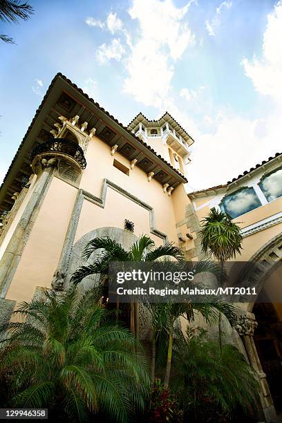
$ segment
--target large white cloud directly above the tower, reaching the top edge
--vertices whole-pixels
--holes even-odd
[[[133,0],[129,15],[138,21],[140,33],[135,42],[127,39],[131,54],[126,61],[129,75],[124,91],[135,100],[162,106],[171,88],[176,59],[194,43],[194,35],[184,21],[191,3],[177,8],[171,0]]]

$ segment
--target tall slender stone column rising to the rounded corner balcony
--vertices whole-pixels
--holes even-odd
[[[26,209],[24,210],[17,227],[10,238],[1,261],[0,261],[0,297],[5,298],[12,278],[21,259],[23,248],[26,245],[36,216],[39,212],[41,201],[48,191],[52,168],[47,168],[41,173]]]

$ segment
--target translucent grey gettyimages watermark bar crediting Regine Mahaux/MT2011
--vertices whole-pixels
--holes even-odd
[[[114,262],[109,302],[282,302],[282,263]]]

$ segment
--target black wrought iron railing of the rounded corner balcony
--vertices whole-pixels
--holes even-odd
[[[42,153],[64,153],[74,158],[82,169],[86,168],[86,160],[82,147],[71,140],[64,138],[53,138],[43,144],[37,145],[30,153],[30,160],[32,161],[36,156]]]

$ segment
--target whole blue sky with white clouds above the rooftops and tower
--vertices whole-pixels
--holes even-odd
[[[168,111],[195,142],[189,190],[281,152],[282,0],[37,0],[0,23],[0,179],[57,72],[122,124]]]

